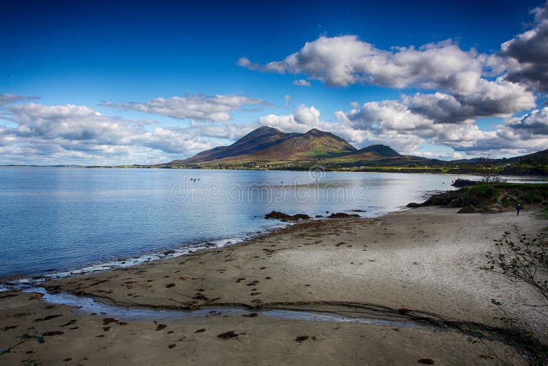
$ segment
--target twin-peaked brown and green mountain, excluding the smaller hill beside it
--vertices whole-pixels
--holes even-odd
[[[192,158],[171,164],[216,162],[240,164],[255,160],[310,160],[358,151],[330,132],[310,130],[306,134],[286,134],[273,127],[259,127],[230,146],[202,151]]]

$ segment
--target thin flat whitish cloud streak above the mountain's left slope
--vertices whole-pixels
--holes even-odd
[[[247,106],[270,106],[263,99],[244,97],[242,95],[185,95],[184,97],[158,97],[146,102],[103,103],[103,106],[122,110],[162,114],[175,119],[196,119],[199,121],[228,121],[230,112]]]

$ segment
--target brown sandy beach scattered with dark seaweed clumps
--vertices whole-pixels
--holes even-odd
[[[15,347],[0,361],[414,365],[427,358],[436,365],[490,364],[485,345],[458,330],[471,322],[499,327],[493,318],[500,314],[490,299],[542,337],[548,324],[523,305],[523,298],[534,302],[536,293],[484,271],[484,254],[505,230],[515,226],[534,234],[546,221],[536,219],[532,209],[519,217],[457,210],[416,208],[379,219],[309,221],[230,247],[44,284],[49,292],[68,291],[116,306],[211,308],[208,316],[105,320],[101,313],[47,304],[35,293],[0,293],[0,348],[17,343],[30,327],[51,334],[43,344],[31,340]],[[219,314],[219,307],[257,315]],[[271,309],[429,322],[412,328],[261,313]],[[238,335],[218,337],[229,331]],[[508,350],[500,341],[487,343]]]

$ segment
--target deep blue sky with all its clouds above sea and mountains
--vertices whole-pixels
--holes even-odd
[[[0,164],[165,162],[260,125],[445,159],[546,149],[547,56],[523,51],[546,45],[546,13],[539,1],[13,1],[0,14]]]

